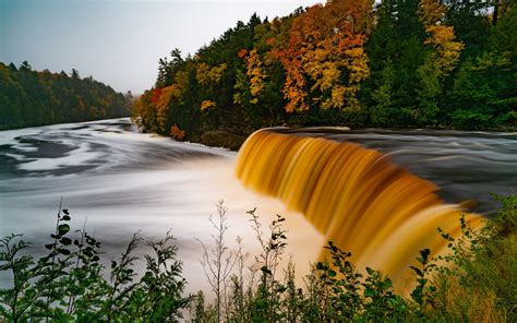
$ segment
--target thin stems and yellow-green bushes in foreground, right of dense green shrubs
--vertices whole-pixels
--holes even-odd
[[[285,219],[278,216],[264,234],[252,211],[262,253],[248,268],[243,267],[248,258],[240,250],[233,259],[226,258],[238,267],[228,282],[221,282],[227,295],[219,295],[219,299],[227,301],[204,307],[203,295],[199,295],[192,307],[194,321],[515,322],[517,195],[496,199],[502,208],[484,228],[474,231],[460,218],[459,238],[438,229],[449,242],[449,253],[432,259],[429,249],[420,251],[411,266],[417,280],[409,297],[397,295],[392,280],[381,272],[365,268],[361,274],[350,262],[351,254],[332,242],[326,247],[329,262],[314,264],[304,285],[297,286],[292,263],[284,268],[284,275],[278,267],[287,244],[287,232],[281,228]],[[219,220],[220,227],[226,227],[224,214]]]

